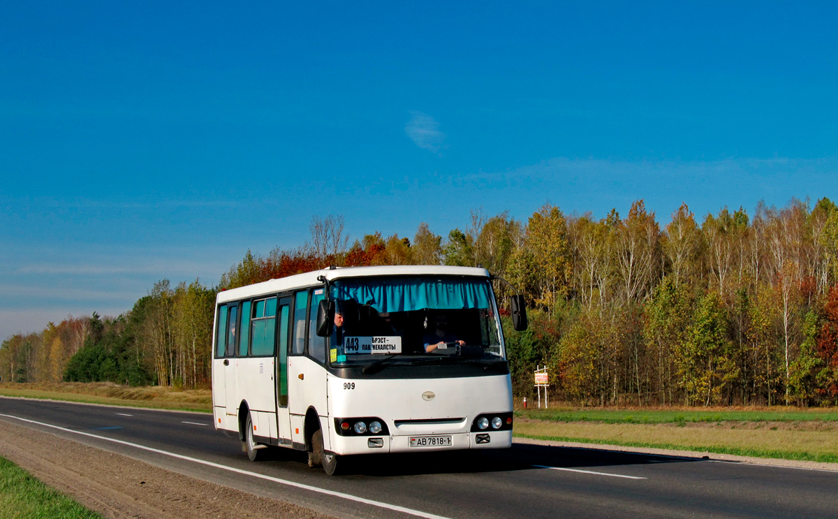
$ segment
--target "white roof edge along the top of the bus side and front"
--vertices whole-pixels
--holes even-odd
[[[251,298],[261,294],[286,292],[295,288],[318,285],[321,275],[328,280],[339,278],[360,278],[364,276],[417,276],[422,274],[440,276],[478,276],[489,278],[489,271],[479,267],[443,267],[439,265],[396,265],[386,267],[337,267],[323,268],[287,278],[271,279],[246,287],[231,288],[218,293],[216,303]]]

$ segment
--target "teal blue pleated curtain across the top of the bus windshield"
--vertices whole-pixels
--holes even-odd
[[[417,309],[487,309],[489,283],[462,278],[355,278],[333,285],[338,299],[370,304],[379,312]]]

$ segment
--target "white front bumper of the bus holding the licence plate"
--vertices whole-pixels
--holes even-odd
[[[447,444],[447,437],[451,439],[450,444]],[[425,440],[423,441],[422,438]],[[411,439],[414,439],[412,442],[414,446],[412,447]],[[444,445],[434,445],[437,443],[444,443]],[[440,452],[463,449],[508,449],[511,446],[512,431],[495,431],[492,433],[452,433],[431,436],[335,436],[332,439],[332,448],[328,450],[334,454],[345,455]]]

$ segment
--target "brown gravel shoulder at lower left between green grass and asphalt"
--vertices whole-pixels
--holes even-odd
[[[108,518],[331,519],[0,420],[0,456]]]

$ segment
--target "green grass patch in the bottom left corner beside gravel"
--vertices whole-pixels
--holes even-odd
[[[101,519],[101,515],[49,488],[4,458],[0,458],[0,517]]]

